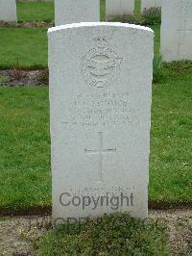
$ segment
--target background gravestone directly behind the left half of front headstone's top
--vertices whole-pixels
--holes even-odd
[[[100,21],[99,0],[55,0],[56,26]]]

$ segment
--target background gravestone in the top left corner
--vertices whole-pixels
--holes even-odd
[[[0,21],[16,22],[15,0],[0,0]]]

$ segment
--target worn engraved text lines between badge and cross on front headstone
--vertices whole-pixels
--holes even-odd
[[[131,108],[130,92],[83,92],[74,98],[61,123],[83,127],[130,124],[138,121],[142,106],[137,107]]]

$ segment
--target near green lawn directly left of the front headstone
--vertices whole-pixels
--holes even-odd
[[[0,90],[0,209],[51,205],[48,90]]]

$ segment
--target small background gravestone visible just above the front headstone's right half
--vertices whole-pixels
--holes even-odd
[[[134,0],[106,0],[106,16],[111,19],[114,16],[133,15]]]

